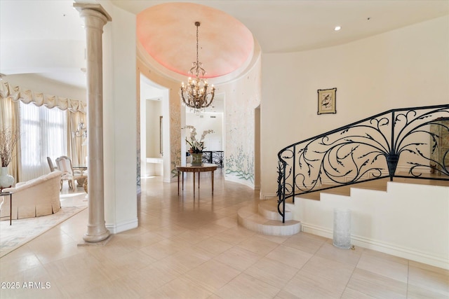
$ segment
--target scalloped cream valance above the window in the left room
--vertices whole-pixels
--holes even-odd
[[[45,105],[47,108],[58,107],[61,110],[86,113],[86,103],[78,99],[67,99],[56,95],[46,95],[20,86],[13,86],[0,81],[0,97],[10,98],[13,102],[22,101],[25,104],[34,103],[36,106]]]

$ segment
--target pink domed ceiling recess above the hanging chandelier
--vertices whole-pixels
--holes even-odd
[[[253,53],[253,34],[239,20],[215,8],[190,3],[159,4],[137,17],[137,38],[156,62],[189,76],[196,62],[196,26],[199,62],[206,78],[239,69]]]

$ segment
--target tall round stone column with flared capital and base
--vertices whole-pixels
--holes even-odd
[[[88,128],[88,227],[86,242],[100,242],[110,233],[105,225],[103,165],[103,27],[112,18],[100,4],[74,3],[86,27],[87,128]]]

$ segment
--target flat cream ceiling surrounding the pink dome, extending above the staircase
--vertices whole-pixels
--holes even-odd
[[[130,13],[168,1],[112,0]],[[180,1],[216,8],[242,22],[263,53],[336,46],[449,13],[447,0]],[[182,12],[180,12],[182,13]],[[368,20],[369,18],[369,20]],[[334,32],[340,25],[342,30]]]

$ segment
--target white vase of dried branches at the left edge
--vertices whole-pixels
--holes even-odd
[[[11,187],[14,184],[14,177],[8,174],[8,165],[13,160],[14,148],[19,137],[18,132],[9,128],[0,130],[0,188]]]

